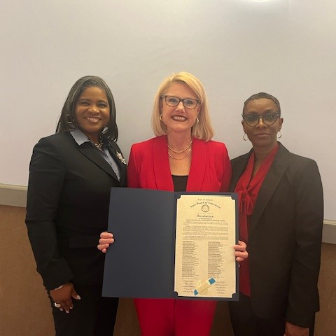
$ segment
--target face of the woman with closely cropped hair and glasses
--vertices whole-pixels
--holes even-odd
[[[251,100],[244,108],[244,116],[265,116],[269,113],[276,113],[276,104],[271,99],[260,98]],[[253,148],[262,148],[264,150],[271,151],[276,145],[276,134],[281,130],[283,118],[276,119],[272,125],[265,125],[260,118],[258,124],[255,126],[249,126],[247,123],[241,121],[244,132],[250,139]]]

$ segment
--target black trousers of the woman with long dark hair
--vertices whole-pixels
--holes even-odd
[[[56,336],[112,336],[118,297],[102,297],[102,285],[75,286],[81,300],[72,299],[69,314],[60,311],[50,297]]]

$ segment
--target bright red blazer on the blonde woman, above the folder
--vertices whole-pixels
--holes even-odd
[[[193,158],[186,191],[228,191],[231,164],[225,144],[193,139]],[[131,148],[128,186],[174,191],[167,137],[155,137]]]

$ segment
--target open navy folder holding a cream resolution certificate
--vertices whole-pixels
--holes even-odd
[[[111,188],[103,296],[238,300],[235,193]]]

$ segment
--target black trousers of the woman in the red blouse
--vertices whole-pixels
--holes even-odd
[[[282,316],[259,318],[253,313],[251,298],[242,293],[239,293],[239,301],[229,302],[229,309],[235,336],[283,336],[285,332],[285,311]],[[309,336],[314,335],[314,322],[309,328]]]

